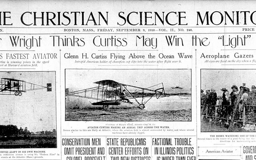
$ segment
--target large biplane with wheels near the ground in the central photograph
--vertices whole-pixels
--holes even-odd
[[[91,104],[94,106],[102,106],[104,110],[107,110],[108,106],[118,106],[122,102],[132,103],[130,99],[134,99],[138,104],[137,106],[140,109],[144,109],[145,104],[153,96],[156,96],[156,99],[165,97],[163,83],[148,88],[122,84],[113,80],[102,80],[94,82],[94,84],[98,84],[98,86],[74,92],[69,92],[67,88],[66,96],[96,100],[97,102]]]

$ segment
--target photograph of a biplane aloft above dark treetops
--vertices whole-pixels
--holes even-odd
[[[57,148],[55,72],[0,72],[0,148]]]

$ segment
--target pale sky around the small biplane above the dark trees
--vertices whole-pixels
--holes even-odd
[[[14,78],[42,86],[52,83],[52,92],[44,88],[25,92],[22,96],[0,95],[1,125],[28,127],[30,132],[56,129],[55,72],[0,72],[0,78]]]

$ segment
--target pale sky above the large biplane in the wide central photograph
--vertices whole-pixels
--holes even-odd
[[[77,91],[98,84],[101,80],[147,88],[163,83],[165,90],[171,87],[191,88],[190,69],[66,69],[66,88]]]

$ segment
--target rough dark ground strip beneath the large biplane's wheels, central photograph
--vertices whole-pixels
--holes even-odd
[[[191,121],[191,110],[66,109],[70,121]]]

